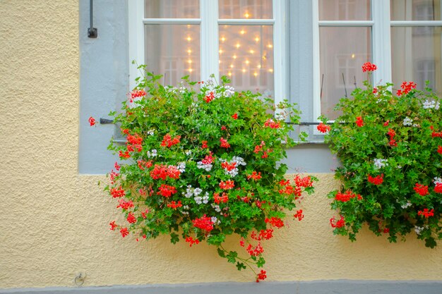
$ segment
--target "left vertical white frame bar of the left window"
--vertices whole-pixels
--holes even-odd
[[[132,64],[135,60],[138,65],[144,62],[144,1],[129,1],[129,87],[136,86],[135,78],[140,75],[137,66]]]

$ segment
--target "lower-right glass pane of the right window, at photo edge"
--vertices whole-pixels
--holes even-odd
[[[429,80],[434,92],[442,94],[442,27],[392,27],[391,56],[393,82],[416,82],[425,88]]]

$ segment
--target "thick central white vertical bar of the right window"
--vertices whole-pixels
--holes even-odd
[[[372,0],[374,84],[391,82],[390,1]]]

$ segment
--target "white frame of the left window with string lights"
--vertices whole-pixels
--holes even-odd
[[[219,25],[273,25],[273,73],[275,87],[275,104],[287,97],[287,66],[285,64],[285,2],[273,0],[273,18],[270,19],[219,19],[218,0],[200,0],[200,18],[144,18],[144,1],[129,2],[129,64],[136,60],[145,64],[144,25],[146,24],[181,24],[201,26],[201,80],[210,75],[220,78],[219,67]],[[129,85],[135,87],[134,79],[139,75],[136,66],[129,68]]]

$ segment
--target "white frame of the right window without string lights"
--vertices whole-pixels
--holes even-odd
[[[313,119],[321,116],[319,27],[371,27],[372,62],[378,66],[373,73],[376,83],[392,80],[391,27],[419,26],[442,26],[442,21],[390,20],[390,1],[387,0],[371,0],[371,20],[319,20],[319,0],[313,0]]]

